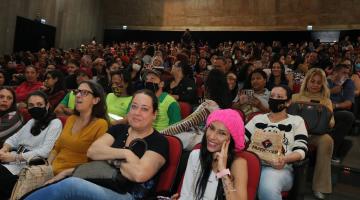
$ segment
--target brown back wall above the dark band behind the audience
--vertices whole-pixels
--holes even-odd
[[[360,29],[358,0],[104,0],[105,27],[145,30]]]

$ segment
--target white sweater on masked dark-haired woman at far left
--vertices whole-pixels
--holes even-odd
[[[59,119],[53,119],[48,127],[42,130],[39,135],[33,136],[30,130],[34,122],[34,119],[29,120],[17,133],[5,141],[5,143],[9,144],[12,148],[17,149],[19,145],[23,145],[29,150],[22,154],[25,160],[29,160],[36,156],[47,158],[62,131],[61,121]],[[25,163],[10,163],[5,164],[4,166],[12,174],[18,174],[25,166]]]

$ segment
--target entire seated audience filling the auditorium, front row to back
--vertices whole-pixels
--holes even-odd
[[[172,199],[246,199],[251,174],[235,154],[270,128],[284,140],[276,160],[261,160],[258,198],[291,190],[292,166],[308,157],[309,143],[317,148],[312,190],[325,199],[331,163],[342,162],[344,138],[359,116],[359,74],[360,45],[350,40],[211,46],[185,38],[0,56],[0,199],[10,197],[31,156],[47,158],[55,176],[27,199],[151,196],[169,156],[163,135],[180,138],[186,150],[201,143],[185,159],[182,189]],[[332,129],[308,133],[301,117],[287,114],[291,101],[326,106]],[[148,143],[140,158],[126,149],[137,138]],[[124,193],[68,178],[90,160],[111,159],[126,160],[119,170],[131,187]]]

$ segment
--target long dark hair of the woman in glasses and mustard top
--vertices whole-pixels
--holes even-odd
[[[107,106],[105,103],[105,92],[103,87],[94,81],[82,81],[79,85],[83,83],[90,87],[94,97],[98,97],[100,99],[99,102],[92,107],[91,117],[109,121],[107,117]],[[74,114],[78,116],[80,115],[76,108],[74,109]]]

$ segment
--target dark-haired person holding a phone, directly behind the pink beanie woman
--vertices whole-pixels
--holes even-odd
[[[254,112],[269,112],[270,91],[265,87],[266,73],[262,69],[255,69],[249,77],[250,79],[245,82],[233,108],[241,110],[245,116]]]

